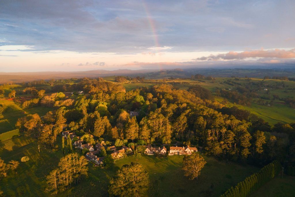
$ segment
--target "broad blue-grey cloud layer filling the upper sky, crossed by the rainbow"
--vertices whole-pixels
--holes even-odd
[[[126,54],[294,46],[295,1],[263,2],[1,1],[0,42],[35,51]],[[264,36],[268,32],[273,36]]]

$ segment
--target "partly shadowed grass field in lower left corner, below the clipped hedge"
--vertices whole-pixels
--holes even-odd
[[[10,171],[6,178],[1,180],[1,190],[5,196],[49,196],[44,193],[45,176],[58,164],[61,151],[53,152],[40,148],[38,152],[35,140],[20,136],[2,142],[0,156],[4,162],[17,160],[28,156],[28,162],[20,162],[17,172]]]

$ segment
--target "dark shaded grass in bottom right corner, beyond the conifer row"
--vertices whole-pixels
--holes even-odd
[[[271,181],[263,185],[257,191],[255,191],[251,197],[260,196],[284,196],[293,197],[295,196],[295,177],[285,175],[283,178],[277,176]]]

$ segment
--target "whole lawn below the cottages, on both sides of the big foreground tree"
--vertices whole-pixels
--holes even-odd
[[[207,165],[201,171],[197,180],[188,180],[181,170],[183,156],[155,158],[143,156],[135,161],[132,156],[117,160],[114,170],[105,170],[91,165],[89,178],[75,186],[67,194],[79,195],[81,191],[88,196],[106,196],[109,178],[122,165],[139,162],[148,171],[151,180],[151,190],[148,196],[219,196],[232,185],[244,180],[259,169],[249,165],[225,163],[213,157],[204,156]],[[95,187],[93,191],[91,188]],[[66,195],[66,194],[65,194]]]

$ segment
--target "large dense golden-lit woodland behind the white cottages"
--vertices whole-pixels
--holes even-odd
[[[206,154],[254,163],[285,157],[283,152],[295,141],[294,125],[278,123],[271,128],[248,111],[226,108],[210,100],[211,93],[199,86],[187,91],[162,83],[126,92],[120,84],[83,78],[67,88],[77,88],[83,94],[44,95],[40,90],[36,95],[36,99],[43,96],[40,105],[54,110],[42,120],[37,114],[20,118],[17,128],[37,137],[39,144],[51,147],[58,133],[68,126],[79,136],[89,133],[95,139],[112,139],[116,146],[126,145],[127,141],[139,145],[182,141],[203,146]],[[129,111],[138,115],[130,116]],[[96,143],[87,135],[82,138],[87,143]]]

